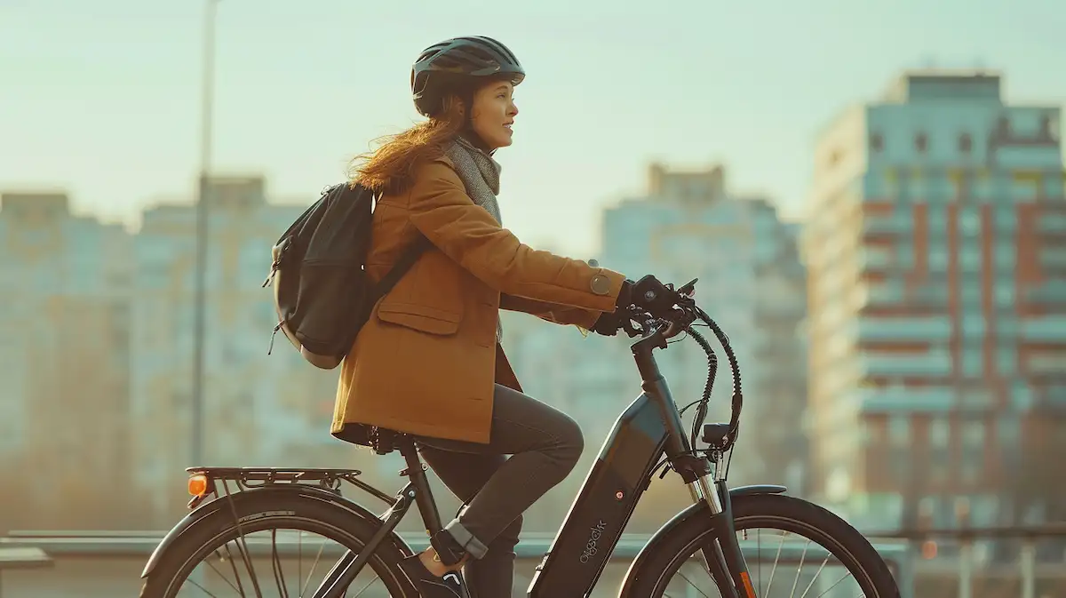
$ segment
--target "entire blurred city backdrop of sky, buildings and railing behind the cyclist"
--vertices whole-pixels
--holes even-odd
[[[268,355],[261,284],[320,190],[416,120],[417,53],[487,34],[529,74],[504,226],[699,278],[744,375],[731,485],[844,516],[907,598],[1066,596],[1064,6],[0,0],[0,593],[132,595],[192,465],[402,485],[398,455],[329,436],[337,371]],[[548,537],[639,376],[627,339],[504,330],[585,430],[526,517]],[[659,359],[698,398],[697,345]],[[657,481],[627,531],[690,500]]]

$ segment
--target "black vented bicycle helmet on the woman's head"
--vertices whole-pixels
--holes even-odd
[[[496,39],[453,37],[422,50],[410,69],[410,91],[419,114],[432,116],[448,91],[471,86],[479,79],[503,79],[517,85],[524,78],[514,52]]]

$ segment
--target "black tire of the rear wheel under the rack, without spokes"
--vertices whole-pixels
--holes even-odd
[[[379,523],[337,505],[298,495],[236,501],[233,510],[229,506],[221,508],[178,536],[166,549],[159,566],[148,575],[141,587],[141,598],[174,598],[181,588],[181,582],[188,579],[196,565],[241,535],[270,530],[302,530],[321,534],[357,552],[370,540]],[[244,522],[238,527],[238,520]],[[403,554],[392,543],[384,542],[367,566],[382,579],[390,596],[418,596],[418,591],[400,565],[402,559]]]

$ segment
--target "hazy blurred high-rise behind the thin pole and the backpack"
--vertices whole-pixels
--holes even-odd
[[[211,465],[351,465],[329,436],[336,371],[318,370],[278,334],[271,288],[262,288],[271,247],[307,208],[269,204],[261,177],[209,183],[205,459]],[[156,488],[152,511],[171,521],[191,465],[194,341],[194,206],[147,210],[135,237],[131,323],[136,479]],[[348,459],[345,462],[344,459]]]

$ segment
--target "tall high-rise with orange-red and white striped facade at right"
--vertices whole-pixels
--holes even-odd
[[[867,528],[1062,515],[1060,109],[904,74],[823,131],[804,237],[818,495]]]

